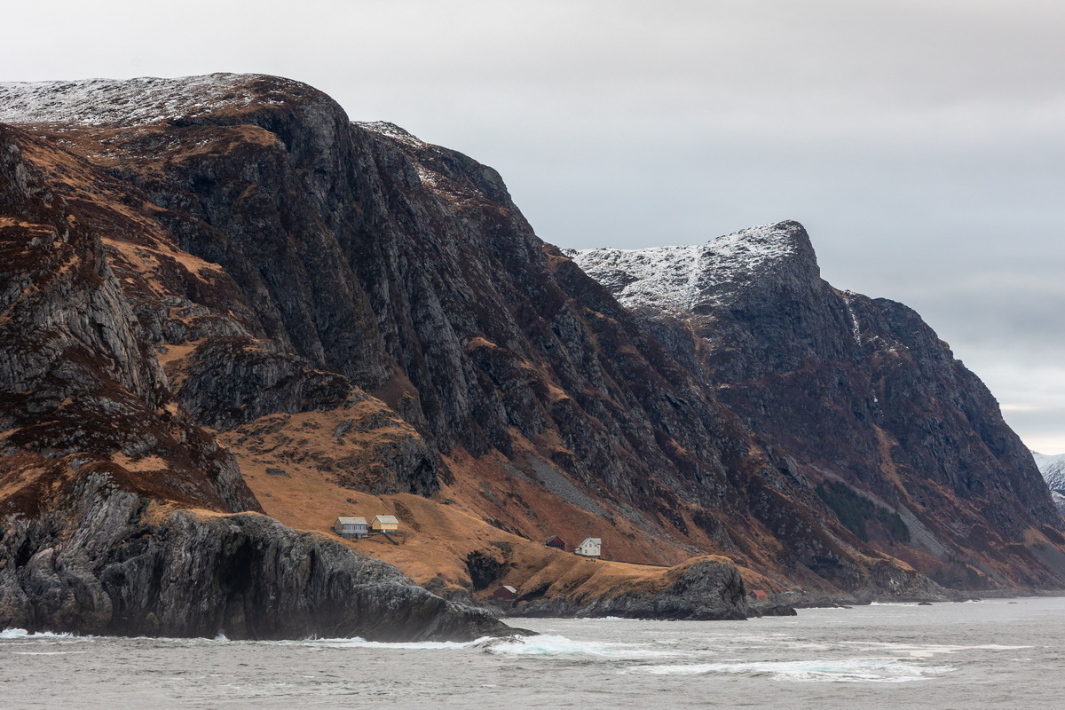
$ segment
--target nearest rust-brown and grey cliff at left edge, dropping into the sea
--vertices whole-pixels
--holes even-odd
[[[0,127],[0,626],[381,640],[505,628],[339,543],[233,514],[261,508],[233,457],[169,389],[153,349],[162,330],[134,314],[146,302],[124,293],[99,236],[106,213],[65,199],[27,160],[35,150],[49,165],[52,149]],[[195,332],[175,323],[165,321],[171,342]],[[204,422],[351,396],[343,376],[312,373],[295,356],[207,340],[230,349],[192,353],[185,384]],[[256,385],[258,398],[233,401],[234,382]]]

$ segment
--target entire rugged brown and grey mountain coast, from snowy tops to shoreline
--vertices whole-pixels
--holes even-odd
[[[145,601],[178,559],[246,635],[294,632],[278,574],[299,609],[388,579],[422,610],[406,633],[458,635],[491,624],[455,601],[503,583],[522,613],[706,618],[752,613],[752,584],[1065,579],[990,395],[912,311],[815,278],[797,225],[635,303],[493,169],[298,82],[0,84],[0,623],[209,632]],[[740,258],[761,242],[798,255]],[[329,538],[378,513],[406,544]],[[337,565],[363,597],[307,583]]]

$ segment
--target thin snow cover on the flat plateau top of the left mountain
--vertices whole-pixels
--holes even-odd
[[[0,82],[0,122],[142,126],[195,118],[224,106],[281,103],[260,82],[300,85],[261,75],[212,73],[159,79]]]

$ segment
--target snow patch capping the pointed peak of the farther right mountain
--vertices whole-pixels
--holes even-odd
[[[566,253],[622,304],[656,312],[719,304],[737,287],[782,264],[805,254],[813,258],[809,238],[794,221],[751,227],[702,245]]]

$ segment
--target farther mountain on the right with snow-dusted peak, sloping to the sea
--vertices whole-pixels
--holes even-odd
[[[914,311],[823,281],[799,224],[572,255],[760,434],[791,495],[944,582],[966,583],[960,563],[972,582],[1061,574],[1061,523],[994,397]]]

